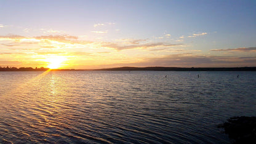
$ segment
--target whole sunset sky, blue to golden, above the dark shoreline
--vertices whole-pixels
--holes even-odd
[[[256,66],[256,1],[0,0],[0,66]]]

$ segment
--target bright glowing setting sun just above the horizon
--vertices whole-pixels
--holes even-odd
[[[57,69],[63,65],[63,62],[66,61],[66,58],[61,56],[56,56],[56,57],[47,58],[45,61],[49,63],[49,65],[47,66],[48,68]]]

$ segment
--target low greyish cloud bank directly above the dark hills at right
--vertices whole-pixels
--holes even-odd
[[[141,63],[134,63],[134,66],[178,66],[178,67],[218,67],[218,66],[244,66],[254,65],[256,62],[255,57],[217,57],[217,56],[205,56],[195,55],[193,53],[187,54],[174,54],[165,55],[162,57],[150,57],[144,58]]]

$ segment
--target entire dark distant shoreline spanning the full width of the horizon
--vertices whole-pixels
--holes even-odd
[[[0,71],[47,71],[49,68],[15,68],[15,67],[0,67]],[[256,71],[256,67],[232,67],[232,68],[178,68],[178,67],[130,67],[123,66],[119,68],[101,68],[90,70],[76,70],[76,69],[52,69],[51,71]]]

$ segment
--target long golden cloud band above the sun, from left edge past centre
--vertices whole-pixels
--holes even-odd
[[[38,44],[40,48],[56,48],[65,47],[67,44],[79,44],[85,46],[92,44],[93,47],[106,47],[108,49],[124,50],[124,49],[148,49],[153,48],[166,48],[182,46],[183,44],[170,44],[167,42],[147,42],[148,39],[116,39],[116,42],[97,42],[97,41],[84,41],[78,38],[78,36],[70,35],[47,35],[47,36],[35,36],[25,37],[19,35],[0,36],[0,41],[11,40],[13,42],[2,43],[2,46],[15,47],[28,44]],[[81,47],[80,46],[80,47]],[[71,47],[71,46],[70,46]],[[73,46],[76,47],[76,46]]]

